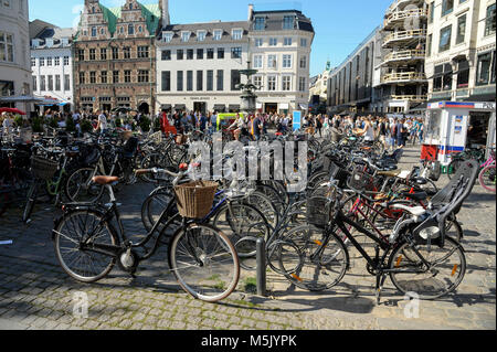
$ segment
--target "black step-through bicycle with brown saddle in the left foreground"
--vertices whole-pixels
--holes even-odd
[[[168,170],[137,170],[136,174]],[[179,214],[169,218],[150,250],[146,245],[163,223],[168,210],[139,243],[131,243],[118,211],[113,186],[117,177],[94,177],[93,182],[103,185],[110,199],[106,206],[67,204],[64,214],[52,231],[55,254],[64,271],[82,282],[95,282],[107,276],[115,264],[135,277],[140,263],[149,259],[161,244],[166,231],[178,220],[180,226],[172,235],[169,247],[169,268],[179,285],[192,297],[204,301],[226,298],[236,287],[240,263],[236,250],[226,235],[218,228],[186,218]],[[118,231],[112,221],[118,224]],[[137,249],[145,250],[139,255]]]

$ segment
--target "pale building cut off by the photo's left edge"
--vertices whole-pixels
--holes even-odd
[[[31,94],[28,0],[0,1],[0,97]],[[30,104],[0,106],[30,111]]]

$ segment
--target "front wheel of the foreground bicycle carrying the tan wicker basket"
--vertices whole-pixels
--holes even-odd
[[[233,244],[221,231],[204,224],[190,224],[175,234],[169,267],[188,294],[209,302],[230,296],[240,278]]]

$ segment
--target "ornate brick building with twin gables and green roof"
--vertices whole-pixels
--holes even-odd
[[[155,38],[169,18],[165,9],[162,19],[163,3],[126,0],[123,7],[106,8],[85,0],[73,44],[75,108],[155,113]]]

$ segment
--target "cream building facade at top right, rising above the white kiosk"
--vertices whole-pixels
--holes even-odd
[[[495,102],[496,1],[429,3],[430,102]]]

